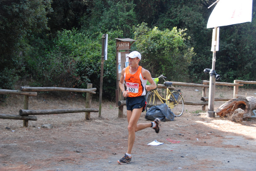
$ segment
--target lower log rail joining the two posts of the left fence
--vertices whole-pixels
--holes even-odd
[[[99,112],[97,108],[74,108],[74,109],[50,109],[50,110],[25,110],[20,109],[20,116],[44,115],[44,114],[68,114],[80,112]]]

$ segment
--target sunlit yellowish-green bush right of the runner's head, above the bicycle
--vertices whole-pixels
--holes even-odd
[[[189,37],[186,37],[184,30],[173,28],[160,31],[142,23],[135,28],[134,34],[137,49],[142,54],[140,65],[146,66],[153,77],[163,74],[169,80],[186,80],[195,53],[185,44]]]

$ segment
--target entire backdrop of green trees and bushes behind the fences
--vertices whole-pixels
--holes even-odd
[[[137,40],[132,50],[152,76],[200,83],[212,66],[212,29],[207,20],[215,0],[1,0],[0,83],[18,77],[35,86],[99,91],[102,35],[107,33],[103,97],[116,89],[116,40]],[[256,79],[256,3],[251,23],[220,28],[215,70],[221,81]],[[143,23],[144,22],[144,23]],[[138,25],[142,23],[141,25]],[[146,25],[147,23],[148,25]],[[135,32],[134,32],[135,31]],[[114,86],[113,86],[114,85]]]

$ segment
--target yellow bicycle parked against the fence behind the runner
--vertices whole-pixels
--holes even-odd
[[[160,105],[162,103],[166,103],[171,111],[175,114],[175,117],[180,117],[184,111],[184,100],[180,90],[170,90],[170,86],[172,82],[166,82],[163,75],[160,77],[154,78],[154,81],[157,83],[159,78],[164,80],[164,85],[166,86],[166,96],[165,98],[159,94],[159,91],[156,89],[148,91],[146,94],[146,108],[145,110],[148,111],[148,108],[155,105]]]

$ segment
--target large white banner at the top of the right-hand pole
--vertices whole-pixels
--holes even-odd
[[[209,17],[207,28],[252,21],[253,0],[220,0]]]

